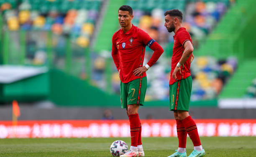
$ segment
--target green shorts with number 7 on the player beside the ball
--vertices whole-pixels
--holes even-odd
[[[144,104],[147,89],[147,77],[120,83],[121,105],[123,109],[130,104]]]

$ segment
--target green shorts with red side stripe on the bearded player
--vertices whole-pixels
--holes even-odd
[[[170,111],[189,111],[191,89],[191,76],[170,85]]]

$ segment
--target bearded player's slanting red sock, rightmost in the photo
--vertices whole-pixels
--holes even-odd
[[[192,140],[194,146],[200,146],[201,142],[197,132],[197,125],[195,124],[195,121],[191,118],[191,116],[183,119],[182,124],[186,128],[187,134],[189,134],[189,137]]]

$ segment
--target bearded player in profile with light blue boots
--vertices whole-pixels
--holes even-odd
[[[182,12],[168,10],[164,13],[168,32],[174,32],[174,46],[172,55],[172,71],[170,86],[170,110],[174,111],[177,123],[179,147],[177,152],[169,157],[187,157],[187,134],[194,144],[194,151],[189,157],[202,157],[205,150],[202,148],[195,121],[189,116],[189,100],[192,89],[190,63],[193,56],[192,39],[186,28],[182,27]]]

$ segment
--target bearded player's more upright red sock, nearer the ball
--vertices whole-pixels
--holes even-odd
[[[186,142],[187,142],[187,132],[182,124],[181,120],[176,120],[177,123],[177,134],[179,139],[179,147],[180,148],[186,148]]]

